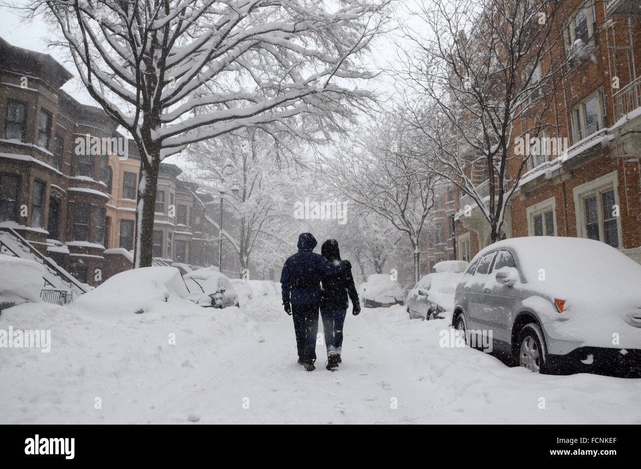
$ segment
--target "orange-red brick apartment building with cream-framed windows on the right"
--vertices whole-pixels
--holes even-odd
[[[565,40],[553,53],[569,53],[578,38],[590,53],[575,58],[559,85],[538,99],[550,100],[554,110],[543,136],[567,138],[568,148],[530,156],[502,234],[592,238],[641,263],[641,4],[566,0],[564,6]],[[515,168],[508,165],[510,174]],[[488,187],[483,176],[475,179],[481,193]],[[469,260],[490,243],[490,226],[478,207],[464,216],[466,205],[474,207],[457,191],[457,258]]]

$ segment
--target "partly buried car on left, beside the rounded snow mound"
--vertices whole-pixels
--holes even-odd
[[[238,294],[229,277],[217,267],[205,267],[183,276],[189,295],[187,299],[205,308],[240,306]]]

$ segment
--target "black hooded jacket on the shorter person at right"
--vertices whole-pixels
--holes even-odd
[[[322,243],[320,254],[332,263],[340,261],[337,240],[327,240]],[[347,309],[347,306],[349,306],[347,295],[352,300],[353,306],[360,305],[356,286],[354,285],[354,277],[352,276],[351,264],[349,261],[345,261],[345,263],[347,263],[347,267],[343,272],[333,275],[323,274],[320,279],[322,282],[322,290],[320,291],[321,311]]]

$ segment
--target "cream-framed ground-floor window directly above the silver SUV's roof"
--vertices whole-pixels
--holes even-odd
[[[620,247],[616,172],[574,188],[574,204],[578,236]]]

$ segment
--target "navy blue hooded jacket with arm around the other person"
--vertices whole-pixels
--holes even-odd
[[[281,273],[283,303],[292,305],[319,304],[320,279],[345,270],[345,262],[335,264],[312,252],[317,242],[312,233],[298,237],[298,252],[285,261]]]

